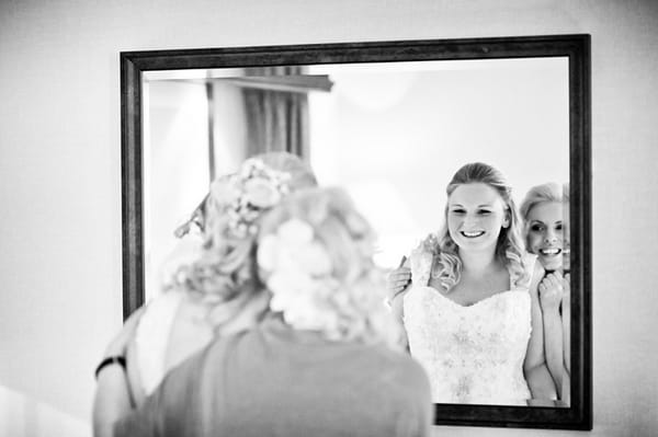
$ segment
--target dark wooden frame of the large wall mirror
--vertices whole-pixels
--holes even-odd
[[[592,428],[590,36],[311,44],[121,53],[123,312],[144,303],[143,72],[384,61],[568,57],[571,406],[435,404],[435,424]]]

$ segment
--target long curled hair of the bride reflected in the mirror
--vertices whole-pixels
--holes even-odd
[[[521,222],[512,198],[512,187],[497,169],[489,164],[474,162],[457,170],[445,188],[447,198],[460,185],[474,183],[487,184],[496,189],[504,204],[510,225],[500,229],[495,256],[508,268],[513,284],[518,285],[527,278],[527,273],[523,264],[525,245],[521,238]],[[444,225],[439,231],[438,238],[426,240],[426,245],[429,244],[428,249],[434,254],[432,277],[439,278],[441,286],[450,291],[462,277],[463,263],[460,257],[460,248],[447,229],[447,210],[446,203]],[[430,243],[427,243],[427,241],[430,241]]]

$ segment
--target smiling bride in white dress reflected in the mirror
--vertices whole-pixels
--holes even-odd
[[[524,256],[511,188],[498,170],[470,163],[446,192],[443,229],[388,281],[434,402],[526,405],[555,399],[534,260]]]

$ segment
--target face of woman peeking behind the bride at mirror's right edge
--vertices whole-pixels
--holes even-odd
[[[563,266],[563,204],[544,202],[527,212],[527,250],[547,271]]]

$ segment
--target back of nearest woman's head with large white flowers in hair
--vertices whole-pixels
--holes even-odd
[[[284,199],[263,219],[258,265],[270,308],[297,330],[329,340],[399,340],[375,267],[374,232],[339,188],[310,188]]]

